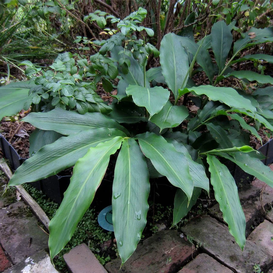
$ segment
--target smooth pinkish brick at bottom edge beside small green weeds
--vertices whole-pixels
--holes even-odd
[[[72,273],[107,273],[85,243],[66,253],[64,259]]]

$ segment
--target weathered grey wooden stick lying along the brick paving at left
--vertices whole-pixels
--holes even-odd
[[[8,178],[8,180],[12,177],[12,172],[8,166],[8,164],[4,161],[0,161],[0,170],[2,170],[5,173],[5,176]],[[44,227],[49,230],[49,218],[45,214],[45,212],[42,210],[42,208],[37,204],[37,202],[28,194],[28,192],[24,189],[22,185],[15,186],[16,190],[19,191],[21,194],[22,199],[25,201],[27,205],[30,206],[31,210],[35,214],[35,216],[39,219],[39,221],[44,225]]]

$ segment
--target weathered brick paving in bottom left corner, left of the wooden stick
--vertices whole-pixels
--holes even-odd
[[[0,272],[58,273],[45,252],[48,235],[14,193],[2,196],[4,187],[0,180]]]

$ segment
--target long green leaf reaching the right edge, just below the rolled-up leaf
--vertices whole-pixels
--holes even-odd
[[[231,155],[227,153],[217,153],[215,155],[222,156],[238,165],[243,171],[254,175],[258,179],[264,181],[270,187],[273,187],[273,171],[268,166],[265,166],[260,159],[250,156],[244,152],[235,152]]]

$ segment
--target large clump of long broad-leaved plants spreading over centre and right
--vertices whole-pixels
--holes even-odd
[[[105,54],[110,51],[109,60],[119,73],[117,95],[113,96],[117,100],[111,104],[113,110],[108,116],[79,115],[57,108],[47,113],[31,113],[23,119],[65,137],[45,145],[26,160],[14,173],[10,186],[36,181],[75,165],[64,200],[50,222],[51,258],[70,240],[93,201],[110,155],[118,150],[112,206],[122,264],[134,252],[146,224],[149,177],[166,176],[177,187],[173,225],[187,214],[202,189],[209,193],[210,178],[223,218],[243,250],[246,221],[237,187],[218,158],[236,163],[245,172],[273,186],[272,171],[261,163],[259,152],[248,146],[249,134],[245,131],[259,139],[251,124],[256,128],[262,124],[273,131],[272,87],[257,88],[250,93],[216,85],[228,77],[272,83],[270,76],[233,71],[230,66],[242,60],[238,53],[243,49],[271,42],[273,30],[252,28],[233,44],[232,29],[236,29],[233,24],[217,22],[211,34],[197,44],[188,37],[166,34],[160,46],[161,66],[148,71],[145,67],[151,51],[142,49],[145,53],[142,58],[134,54],[135,43],[130,47],[124,40],[124,47],[120,47],[119,43],[112,43],[113,35],[103,43],[98,42],[102,47],[100,55],[96,54],[97,59],[109,58]],[[131,30],[131,27],[128,33],[125,30],[125,36]],[[116,33],[115,37],[121,34]],[[146,47],[144,41],[141,47]],[[208,49],[212,50],[216,64]],[[231,57],[226,63],[228,56]],[[272,61],[269,55],[249,55],[243,59],[246,58]],[[211,85],[196,86],[192,81],[196,62]],[[171,98],[169,90],[173,93]],[[200,107],[195,116],[185,106],[177,105],[181,96],[186,100],[188,93]],[[188,121],[187,128],[180,126],[183,121]]]

